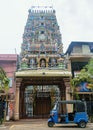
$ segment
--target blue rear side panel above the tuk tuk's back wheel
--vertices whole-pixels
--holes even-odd
[[[74,122],[79,123],[81,120],[88,122],[88,115],[86,112],[77,112],[75,113]]]

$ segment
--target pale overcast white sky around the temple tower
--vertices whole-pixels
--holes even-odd
[[[93,42],[93,0],[0,0],[0,54],[20,54],[31,6],[53,6],[64,53],[72,41]]]

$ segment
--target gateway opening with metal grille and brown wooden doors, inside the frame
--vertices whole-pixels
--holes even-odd
[[[20,117],[49,117],[50,110],[59,98],[60,90],[58,85],[26,86],[20,93]]]

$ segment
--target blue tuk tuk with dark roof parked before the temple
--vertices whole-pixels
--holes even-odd
[[[48,126],[75,123],[85,128],[88,122],[86,102],[81,100],[57,101],[50,112]]]

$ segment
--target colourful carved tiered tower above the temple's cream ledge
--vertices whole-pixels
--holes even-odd
[[[55,10],[52,7],[31,7],[21,46],[21,68],[55,67],[62,54]]]

